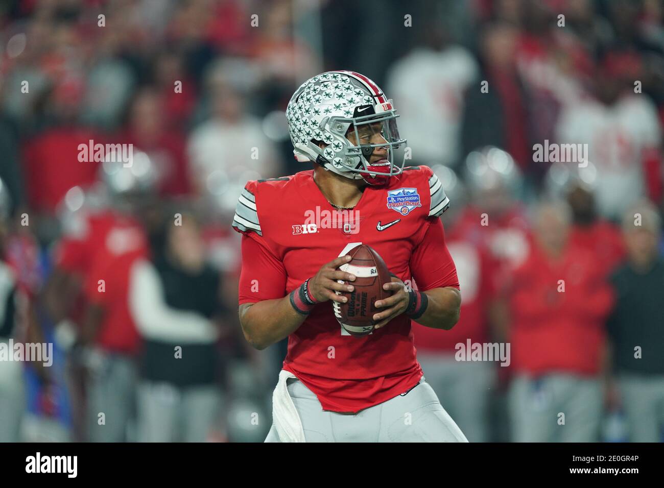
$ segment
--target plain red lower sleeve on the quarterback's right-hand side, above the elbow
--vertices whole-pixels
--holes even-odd
[[[436,218],[410,257],[410,272],[420,291],[447,286],[459,289],[456,266],[445,244],[443,222]]]

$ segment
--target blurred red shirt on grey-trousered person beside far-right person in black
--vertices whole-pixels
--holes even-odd
[[[512,281],[513,368],[598,374],[613,295],[592,252],[568,245],[554,262],[533,248]]]

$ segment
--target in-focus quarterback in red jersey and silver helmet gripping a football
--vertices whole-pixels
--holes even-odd
[[[266,442],[467,442],[425,382],[410,330],[414,319],[451,329],[459,317],[442,183],[426,166],[404,169],[392,100],[362,74],[314,76],[286,116],[295,158],[313,169],[249,181],[232,224],[243,234],[244,337],[257,349],[288,337]],[[307,222],[337,211],[343,225]],[[392,276],[363,336],[341,327],[332,306],[353,289],[355,275],[337,268],[357,244]]]

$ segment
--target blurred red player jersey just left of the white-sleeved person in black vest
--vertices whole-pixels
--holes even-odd
[[[135,260],[148,255],[143,229],[130,218],[118,218],[92,256],[84,293],[104,309],[97,343],[106,351],[133,354],[139,349],[140,335],[129,311],[129,276]]]

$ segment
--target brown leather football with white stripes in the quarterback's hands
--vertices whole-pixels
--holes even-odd
[[[339,280],[339,283],[353,285],[353,291],[337,291],[337,295],[348,298],[346,303],[333,302],[337,320],[351,335],[367,335],[373,331],[376,322],[375,313],[380,309],[374,303],[392,295],[392,291],[382,289],[382,285],[390,283],[390,271],[380,255],[367,244],[358,244],[349,252],[351,259],[342,264],[340,271],[357,276],[355,282]]]

